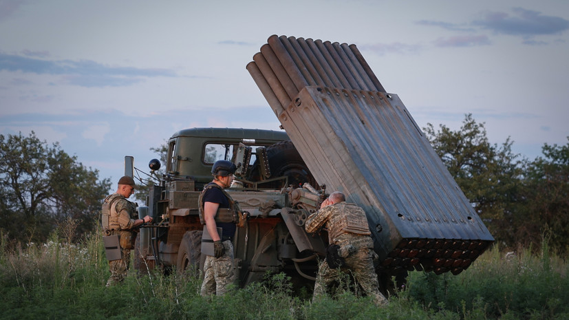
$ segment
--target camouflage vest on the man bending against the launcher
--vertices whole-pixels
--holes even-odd
[[[340,202],[334,204],[330,210],[335,211],[327,224],[330,243],[344,233],[356,235],[371,235],[367,224],[365,211],[356,204]]]

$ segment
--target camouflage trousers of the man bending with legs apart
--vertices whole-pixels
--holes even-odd
[[[372,297],[377,306],[387,304],[387,299],[379,292],[379,282],[374,270],[374,255],[372,249],[361,248],[345,257],[345,265],[336,269],[330,268],[324,260],[318,269],[312,301],[325,295],[330,285],[339,279],[340,273],[344,272],[354,275],[365,294]]]

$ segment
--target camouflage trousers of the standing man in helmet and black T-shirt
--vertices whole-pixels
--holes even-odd
[[[230,284],[235,284],[237,273],[233,262],[233,244],[230,240],[223,242],[225,252],[219,258],[206,256],[204,263],[204,282],[200,295],[224,295]]]

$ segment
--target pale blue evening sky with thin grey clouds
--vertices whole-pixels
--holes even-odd
[[[0,0],[0,134],[116,182],[180,129],[278,130],[245,69],[272,34],[356,44],[421,128],[472,114],[529,160],[568,143],[566,0]]]

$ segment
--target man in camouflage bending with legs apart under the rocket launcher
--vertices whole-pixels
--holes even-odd
[[[378,306],[387,304],[387,299],[379,292],[373,262],[376,256],[372,249],[374,242],[369,236],[371,233],[363,209],[346,203],[343,193],[333,192],[324,200],[320,210],[308,217],[305,229],[308,233],[316,233],[323,226],[328,228],[330,246],[318,269],[312,301],[325,294],[341,271],[350,270],[366,295],[372,296]]]

